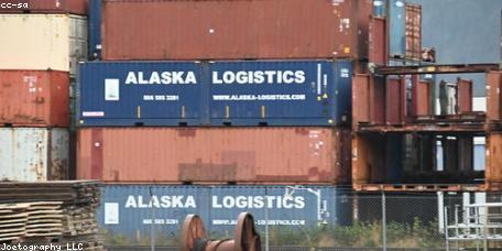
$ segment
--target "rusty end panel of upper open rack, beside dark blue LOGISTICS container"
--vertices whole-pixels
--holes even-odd
[[[370,76],[357,74],[352,83],[352,123],[370,122]]]

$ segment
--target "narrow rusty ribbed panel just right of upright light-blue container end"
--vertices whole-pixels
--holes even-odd
[[[405,3],[405,57],[419,61],[422,58],[422,6]]]

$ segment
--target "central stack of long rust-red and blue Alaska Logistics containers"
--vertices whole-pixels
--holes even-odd
[[[166,205],[143,205],[163,195],[263,199],[295,185],[308,188],[295,197],[320,199],[305,225],[336,218],[321,201],[350,184],[352,76],[365,72],[372,0],[90,6],[97,61],[80,65],[77,177],[108,183],[105,229],[157,225],[143,216]],[[208,184],[217,188],[194,186]],[[221,210],[206,197],[195,211]],[[263,204],[249,203],[263,220]],[[179,227],[190,205],[155,219]],[[229,219],[244,210],[227,209]]]

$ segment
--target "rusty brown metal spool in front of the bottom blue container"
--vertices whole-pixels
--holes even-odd
[[[183,222],[182,251],[261,251],[260,234],[250,212],[241,212],[231,240],[209,240],[203,219],[188,215]]]

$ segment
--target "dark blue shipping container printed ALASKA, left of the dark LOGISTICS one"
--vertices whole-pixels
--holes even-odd
[[[80,64],[79,126],[200,124],[197,63]]]

